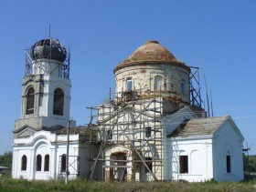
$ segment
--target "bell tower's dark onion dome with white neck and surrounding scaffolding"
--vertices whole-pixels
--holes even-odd
[[[42,62],[45,62],[44,66],[41,65]],[[58,63],[59,66],[51,69],[52,63]],[[69,65],[70,51],[59,40],[42,39],[27,50],[25,76],[33,75],[36,70],[44,70],[45,74],[60,70],[61,77],[69,78]]]

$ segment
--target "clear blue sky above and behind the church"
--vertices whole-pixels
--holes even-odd
[[[51,25],[51,36],[71,50],[70,114],[78,125],[89,122],[86,106],[114,88],[113,68],[155,39],[187,66],[204,64],[214,115],[232,116],[256,155],[255,10],[256,0],[1,1],[0,154],[12,150],[20,116],[24,49]]]

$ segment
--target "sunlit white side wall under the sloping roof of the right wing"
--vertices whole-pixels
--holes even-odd
[[[168,138],[169,180],[206,181],[213,177],[212,142],[209,136]],[[187,171],[180,173],[180,157],[187,157]]]

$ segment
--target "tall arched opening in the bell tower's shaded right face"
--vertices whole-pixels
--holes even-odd
[[[63,116],[63,108],[64,108],[64,93],[61,88],[57,88],[54,91],[53,114],[58,116]]]

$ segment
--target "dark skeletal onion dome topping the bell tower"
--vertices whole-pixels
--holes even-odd
[[[47,58],[62,63],[65,61],[66,55],[67,51],[65,46],[62,45],[59,40],[52,38],[42,39],[32,45],[30,49],[30,56],[33,60]]]

